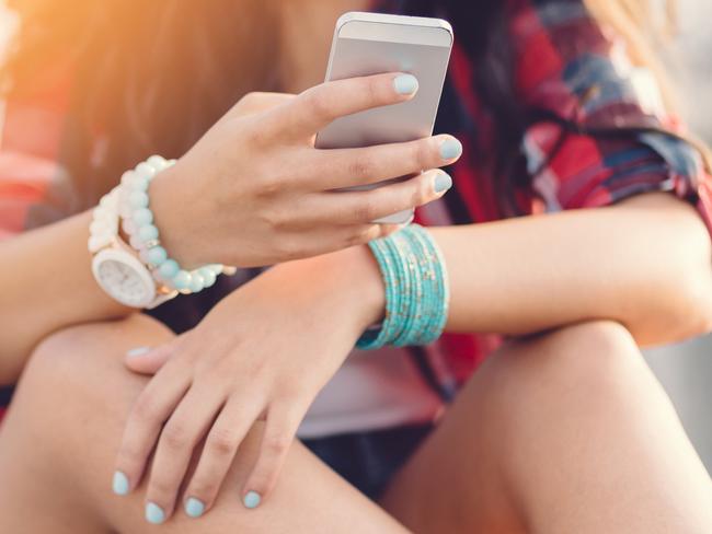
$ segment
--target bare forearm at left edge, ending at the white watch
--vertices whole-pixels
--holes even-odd
[[[94,281],[90,219],[81,213],[0,243],[0,382],[18,376],[47,334],[130,313]]]

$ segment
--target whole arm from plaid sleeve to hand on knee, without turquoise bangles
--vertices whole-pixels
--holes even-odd
[[[451,281],[447,329],[524,335],[610,318],[642,344],[702,333],[712,324],[710,239],[680,198],[703,198],[693,185],[709,177],[685,143],[663,132],[638,135],[639,127],[661,123],[643,114],[612,68],[609,46],[583,4],[565,3],[552,10],[550,2],[516,2],[524,5],[512,24],[517,97],[565,118],[576,112],[598,127],[623,119],[630,131],[597,139],[577,129],[559,143],[555,125],[532,124],[522,132],[528,169],[546,164],[533,189],[550,211],[565,211],[433,229]],[[620,94],[625,102],[610,97]],[[579,102],[582,95],[599,97]],[[456,167],[456,187],[470,176],[458,176]],[[582,209],[593,207],[599,209]],[[243,495],[268,495],[307,406],[383,314],[383,293],[364,246],[283,264],[227,297],[176,343],[127,359],[148,373],[168,363],[127,422],[116,463],[126,483],[119,489],[138,485],[154,452],[148,499],[168,516],[184,483],[183,495],[209,509],[244,429],[263,414],[263,448]],[[191,384],[185,395],[175,393],[176,380]],[[221,393],[209,398],[216,383]],[[208,428],[206,421],[216,422]],[[192,444],[203,439],[206,446],[195,451]],[[194,453],[198,468],[186,477]]]

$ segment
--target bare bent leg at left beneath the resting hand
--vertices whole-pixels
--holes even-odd
[[[143,487],[116,497],[111,479],[124,422],[146,382],[124,370],[122,357],[170,336],[140,316],[71,328],[38,348],[0,434],[0,531],[154,531],[142,519]],[[271,498],[244,509],[239,489],[259,434],[255,426],[214,509],[199,520],[179,510],[163,532],[405,532],[299,443]]]

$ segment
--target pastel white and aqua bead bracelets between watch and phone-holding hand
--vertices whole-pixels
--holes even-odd
[[[186,270],[181,268],[175,259],[169,257],[165,248],[161,246],[158,228],[153,224],[148,188],[158,173],[174,163],[175,160],[151,155],[136,169],[124,173],[118,205],[122,229],[129,236],[131,247],[159,283],[182,293],[196,293],[213,286],[225,267],[220,264],[209,264]]]

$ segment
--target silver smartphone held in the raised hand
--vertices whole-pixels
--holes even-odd
[[[452,27],[441,19],[361,12],[342,15],[336,21],[326,81],[407,72],[417,78],[420,88],[407,102],[337,118],[317,135],[317,148],[369,147],[432,136],[452,42]],[[374,222],[403,224],[412,220],[411,209]]]

